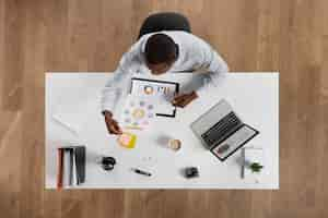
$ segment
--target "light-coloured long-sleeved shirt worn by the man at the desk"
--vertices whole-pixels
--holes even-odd
[[[173,63],[167,73],[207,73],[210,76],[209,82],[215,85],[219,80],[219,73],[229,72],[226,62],[201,38],[179,31],[156,33],[168,35],[178,45],[178,59]],[[128,94],[133,75],[151,73],[145,64],[144,47],[148,38],[156,33],[142,36],[122,56],[117,70],[114,72],[114,77],[107,82],[103,90],[102,111],[113,111],[115,109],[119,98]],[[198,96],[201,97],[203,95],[204,86],[206,84],[196,90]]]

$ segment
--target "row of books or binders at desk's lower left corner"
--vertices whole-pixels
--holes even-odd
[[[58,148],[57,189],[79,185],[85,181],[85,147]]]

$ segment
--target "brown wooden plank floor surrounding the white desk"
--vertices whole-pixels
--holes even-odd
[[[0,217],[328,217],[327,9],[327,0],[0,0]],[[279,191],[45,191],[45,72],[115,70],[156,11],[185,13],[232,71],[280,71]]]

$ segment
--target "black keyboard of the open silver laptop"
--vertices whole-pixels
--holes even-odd
[[[237,118],[237,116],[234,112],[230,112],[215,123],[208,132],[203,133],[201,137],[208,145],[211,146],[230,135],[241,124],[242,121]]]

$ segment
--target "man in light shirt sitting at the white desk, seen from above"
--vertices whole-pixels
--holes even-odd
[[[102,97],[102,110],[110,134],[121,134],[118,122],[113,117],[114,107],[119,97],[128,93],[130,78],[134,73],[206,72],[212,83],[219,80],[219,73],[227,72],[225,61],[199,37],[181,32],[157,32],[142,36],[124,55],[114,78],[106,84]],[[172,104],[186,107],[204,95],[204,87],[176,96]]]

